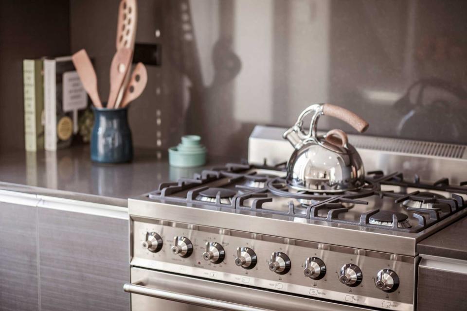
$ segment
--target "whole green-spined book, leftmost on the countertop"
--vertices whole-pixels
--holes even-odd
[[[44,76],[41,59],[23,60],[24,147],[44,149]]]

